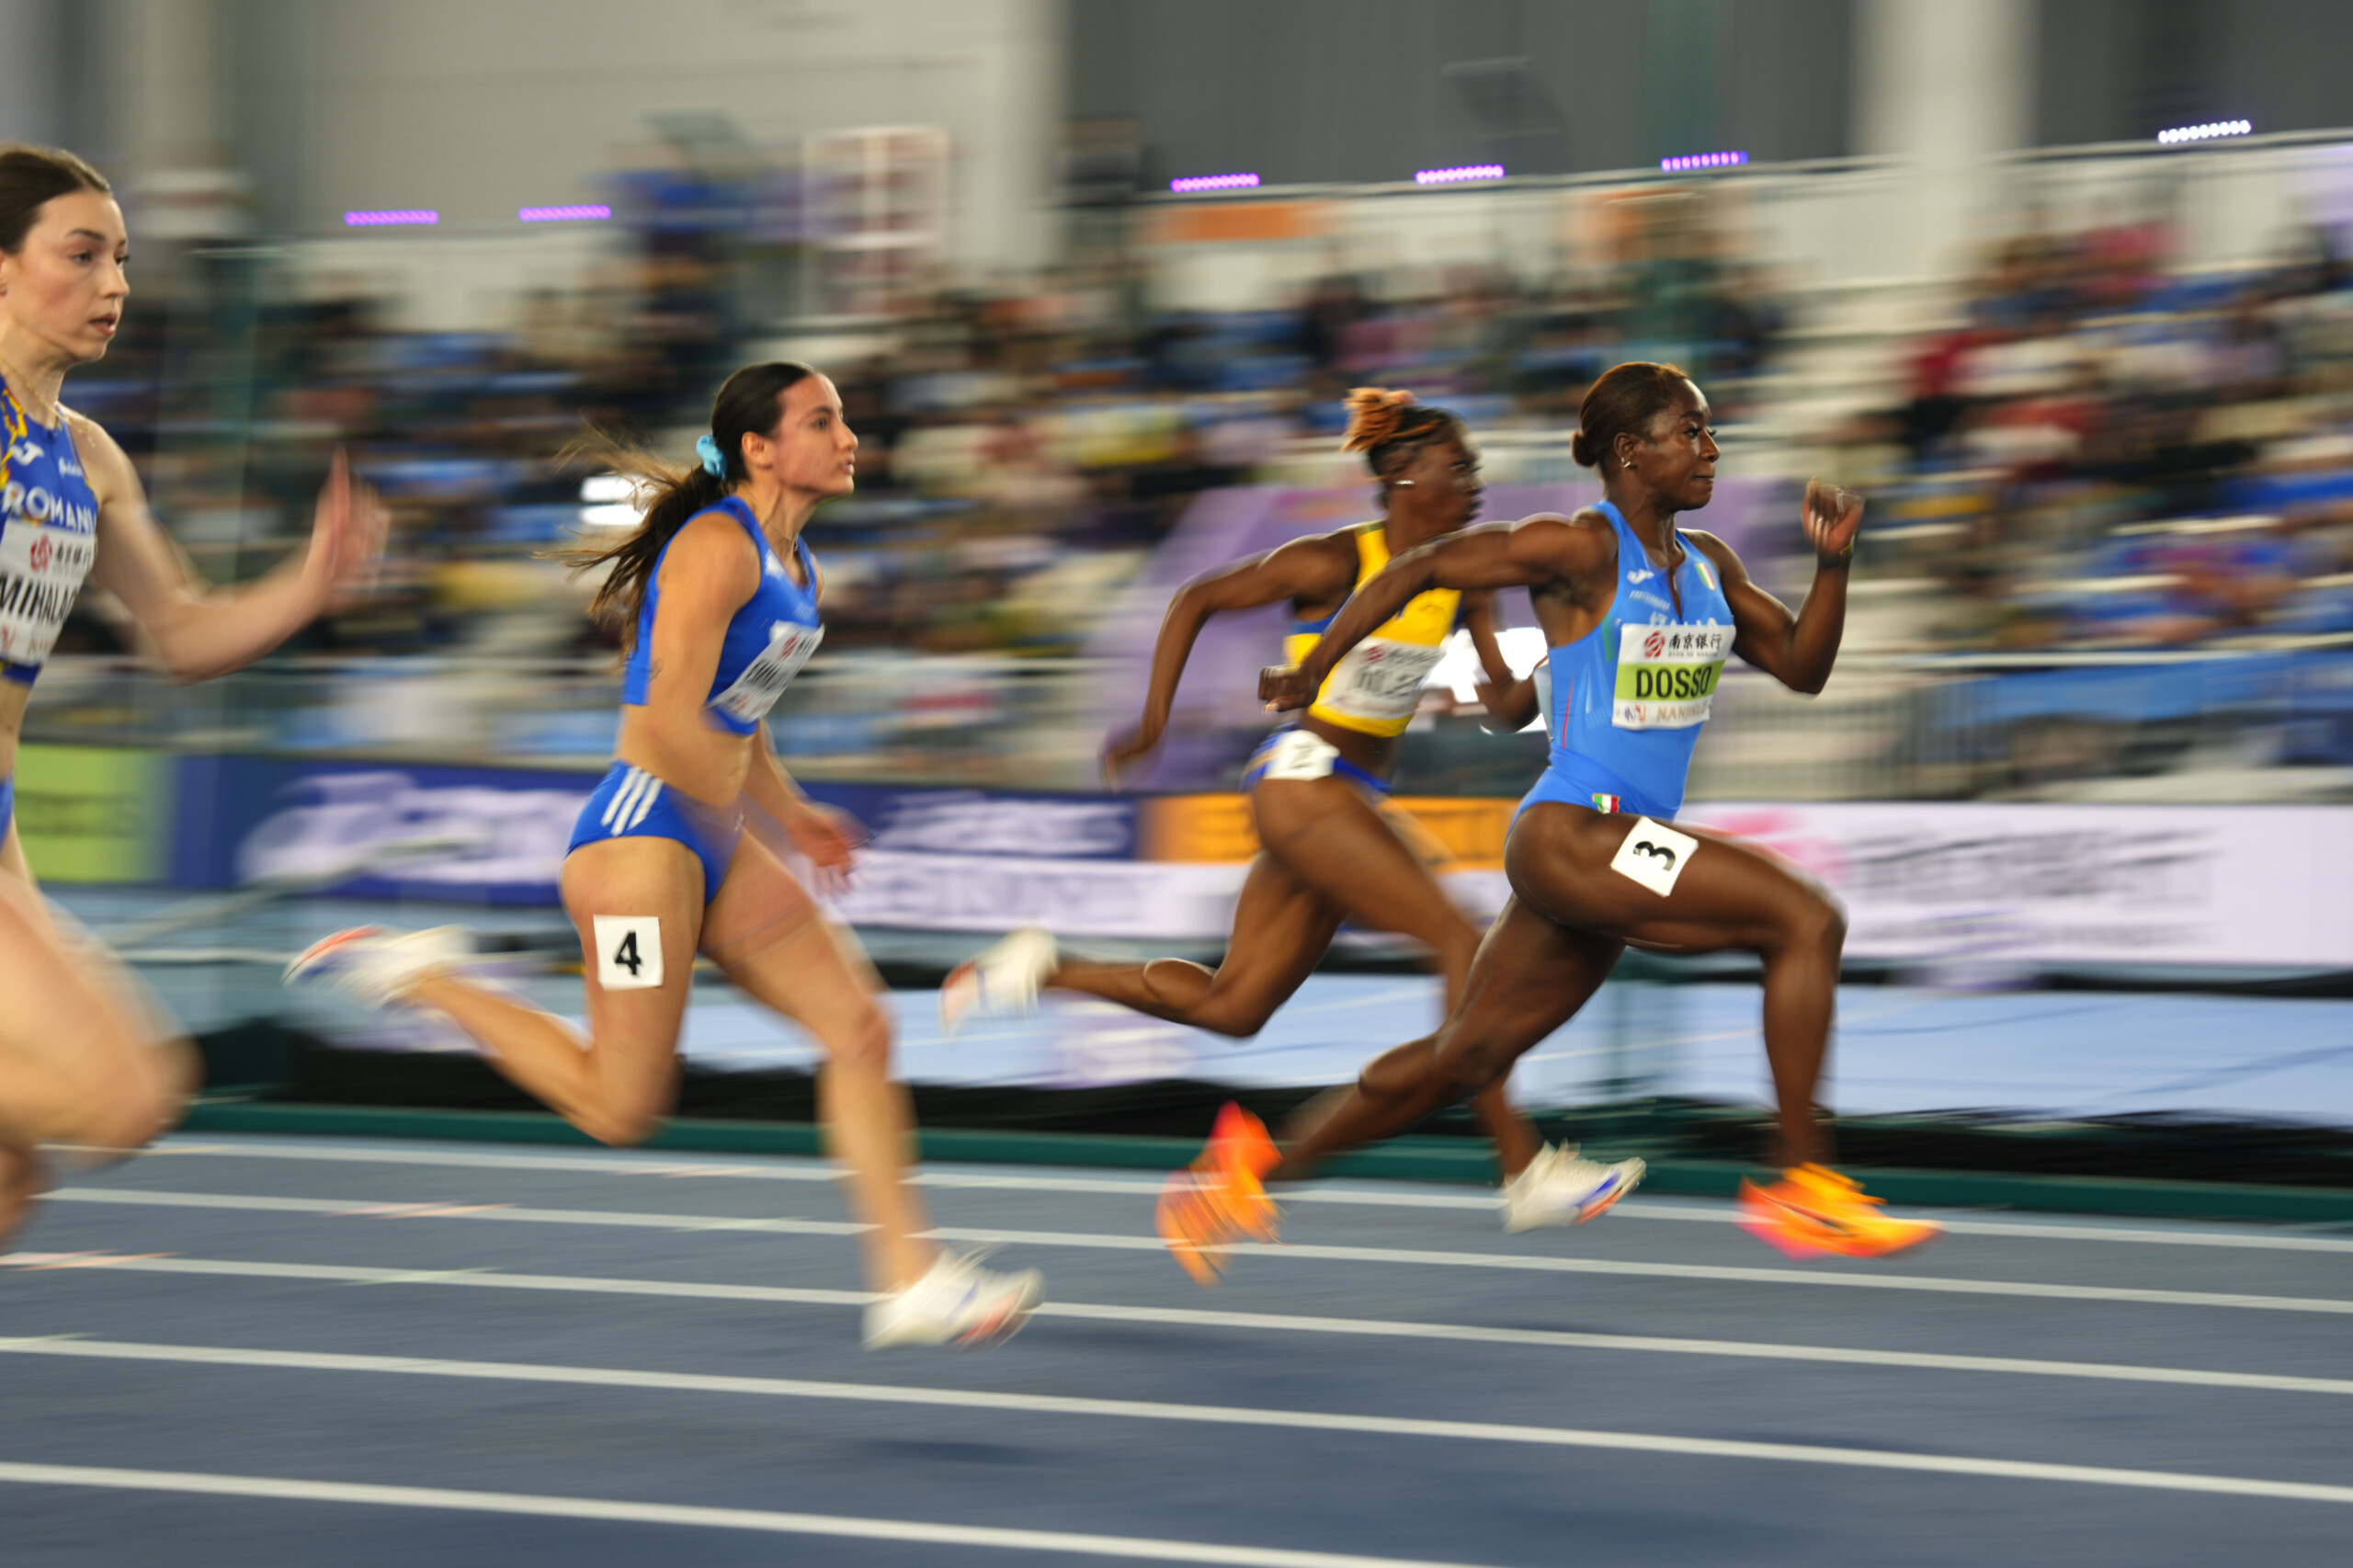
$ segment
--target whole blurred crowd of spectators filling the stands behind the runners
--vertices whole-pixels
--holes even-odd
[[[315,652],[609,645],[544,551],[626,513],[584,513],[560,450],[588,421],[682,454],[725,370],[779,348],[744,325],[744,278],[692,252],[534,297],[506,334],[386,330],[365,297],[273,304],[256,266],[186,259],[169,308],[134,308],[68,393],[212,577],[282,551],[327,447],[351,447],[395,506],[393,560]],[[828,652],[1071,652],[1200,490],[1337,436],[1348,386],[1565,438],[1619,358],[1685,363],[1732,431],[1831,447],[1875,499],[1866,567],[1934,589],[1908,647],[2353,631],[2348,285],[2318,231],[2268,271],[2184,275],[2160,226],[2031,221],[1946,320],[1861,348],[1892,396],[1817,428],[1772,417],[1786,327],[1840,301],[1781,304],[1704,235],[1544,290],[1452,271],[1393,299],[1332,275],[1214,315],[1148,308],[1134,259],[939,292],[812,348],[864,440],[859,494],[814,525]],[[111,636],[82,614],[71,645]]]

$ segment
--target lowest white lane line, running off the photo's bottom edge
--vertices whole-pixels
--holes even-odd
[[[1000,1547],[1007,1552],[1068,1552],[1155,1563],[1219,1563],[1233,1568],[1471,1568],[1402,1556],[1346,1552],[1287,1552],[1282,1547],[1219,1547],[1146,1535],[1078,1535],[1071,1530],[1002,1530],[993,1526],[847,1519],[842,1514],[779,1514],[769,1509],[711,1509],[678,1502],[616,1502],[612,1497],[544,1497],[532,1493],[461,1493],[442,1486],[369,1486],[358,1481],[287,1481],[280,1476],[207,1476],[186,1469],[113,1469],[96,1464],[9,1464],[0,1481],[21,1486],[101,1486],[129,1493],[188,1493],[198,1497],[266,1497],[271,1502],[348,1502],[372,1509],[454,1509],[464,1514],[527,1514],[534,1519],[593,1519],[598,1523],[659,1523],[704,1530],[765,1530],[772,1535],[835,1535],[901,1540],[927,1547]]]

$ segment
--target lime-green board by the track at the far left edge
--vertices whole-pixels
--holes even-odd
[[[45,883],[153,883],[165,873],[172,758],[125,746],[24,746],[16,833]]]

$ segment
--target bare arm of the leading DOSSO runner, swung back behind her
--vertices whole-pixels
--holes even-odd
[[[1607,525],[1595,530],[1584,513],[1577,518],[1537,513],[1518,523],[1487,523],[1431,539],[1374,572],[1325,629],[1306,662],[1297,669],[1264,671],[1259,697],[1278,709],[1306,706],[1332,666],[1417,593],[1579,584],[1607,567],[1614,549],[1617,537]]]

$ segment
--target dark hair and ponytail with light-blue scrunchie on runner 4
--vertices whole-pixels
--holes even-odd
[[[746,365],[727,377],[720,396],[711,400],[711,445],[720,450],[725,476],[711,473],[699,461],[689,469],[673,469],[595,428],[562,450],[558,461],[609,469],[631,480],[638,499],[645,501],[645,520],[619,544],[555,551],[558,560],[574,572],[612,567],[598,584],[595,598],[588,600],[588,619],[619,631],[624,650],[638,638],[638,610],[645,607],[645,586],[654,579],[654,563],[661,560],[664,546],[689,518],[727,499],[744,478],[744,438],[772,436],[784,421],[784,393],[814,374],[807,365],[774,360]]]

